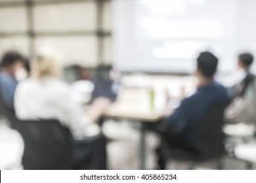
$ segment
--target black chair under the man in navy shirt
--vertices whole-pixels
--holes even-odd
[[[194,169],[196,163],[204,161],[221,159],[225,154],[224,150],[224,109],[228,103],[221,103],[211,108],[205,117],[198,122],[192,129],[192,137],[196,148],[177,148],[172,147],[163,139],[163,145],[160,152],[161,159],[166,161],[180,160],[190,161],[190,169]],[[179,137],[182,138],[182,135]],[[221,161],[219,161],[218,169],[222,169]]]

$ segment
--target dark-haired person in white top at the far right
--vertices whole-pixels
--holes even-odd
[[[222,80],[224,86],[229,88],[230,95],[243,95],[245,88],[254,77],[251,75],[250,69],[253,63],[253,55],[250,53],[243,53],[238,56],[237,70],[228,78]]]

